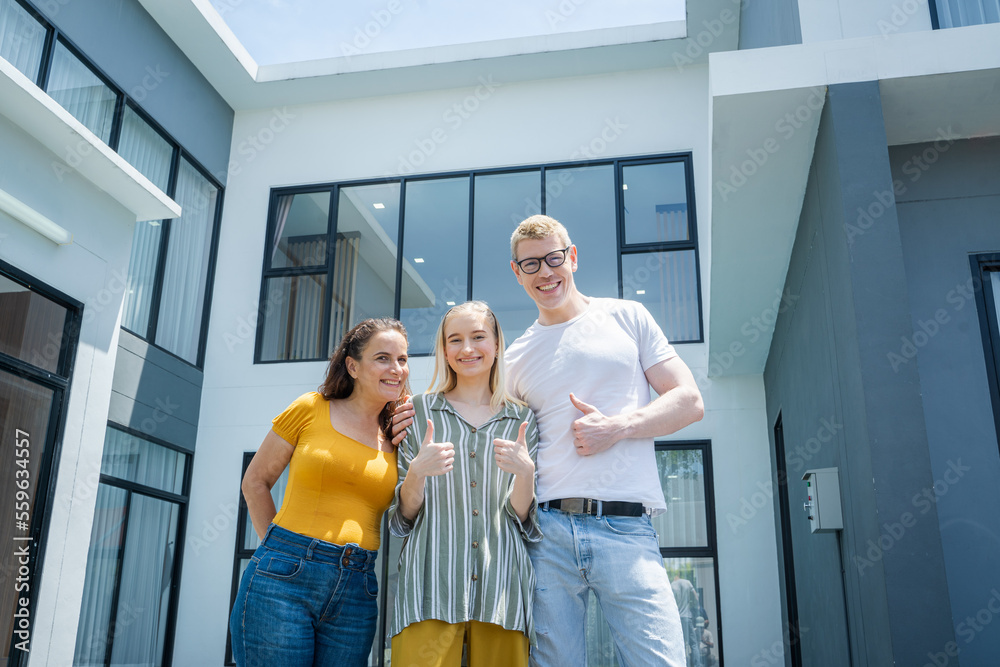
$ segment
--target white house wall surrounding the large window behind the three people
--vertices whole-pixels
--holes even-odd
[[[489,71],[484,70],[482,77],[491,80]],[[395,176],[402,160],[420,162],[416,173],[580,160],[584,159],[580,146],[593,142],[591,149],[599,149],[602,131],[617,122],[624,129],[606,142],[600,157],[693,153],[707,332],[711,265],[707,66],[493,83],[499,84],[495,90],[479,89],[484,99],[457,126],[445,114],[456,103],[474,99],[476,89],[237,113],[206,352],[175,664],[222,664],[236,536],[231,517],[243,452],[259,446],[271,418],[300,393],[315,389],[325,369],[318,362],[253,365],[253,323],[272,187]],[[581,262],[585,271],[585,250]],[[513,276],[510,288],[521,289]],[[508,337],[519,333],[508,332]],[[707,414],[676,438],[712,440],[725,655],[730,664],[748,664],[781,639],[771,511],[762,511],[737,530],[726,520],[728,513],[739,514],[741,498],[759,491],[758,480],[770,478],[763,384],[759,375],[707,379],[705,344],[682,345],[678,351],[699,377]],[[414,390],[423,390],[429,377],[429,360],[414,359]]]

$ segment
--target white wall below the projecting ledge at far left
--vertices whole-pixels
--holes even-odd
[[[57,246],[0,212],[0,259],[84,303],[64,405],[66,424],[40,578],[29,665],[65,666],[73,650],[118,351],[135,215],[0,116],[0,188],[73,233]],[[53,165],[63,171],[57,174]],[[32,517],[41,520],[41,516]]]

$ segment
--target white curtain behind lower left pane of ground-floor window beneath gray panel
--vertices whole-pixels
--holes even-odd
[[[94,527],[90,533],[86,583],[73,658],[73,664],[80,667],[103,666],[105,663],[127,495],[124,489],[105,484],[101,484],[97,490],[97,507],[94,510]]]

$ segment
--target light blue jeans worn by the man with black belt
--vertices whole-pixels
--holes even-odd
[[[684,667],[684,635],[649,517],[541,509],[535,568],[533,667],[587,664],[587,598],[597,597],[623,667]]]

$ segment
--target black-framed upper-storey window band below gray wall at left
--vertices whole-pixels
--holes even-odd
[[[0,56],[181,205],[136,223],[122,326],[202,367],[222,184],[27,0],[0,0]]]

